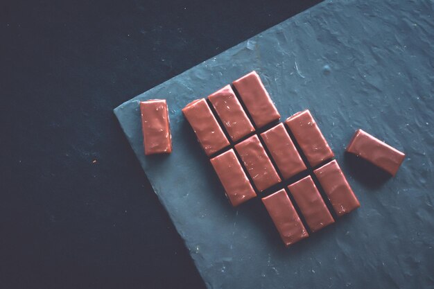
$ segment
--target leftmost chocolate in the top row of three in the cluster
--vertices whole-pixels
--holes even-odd
[[[189,121],[208,156],[229,146],[229,141],[209,109],[205,98],[192,101],[182,109],[182,113]]]

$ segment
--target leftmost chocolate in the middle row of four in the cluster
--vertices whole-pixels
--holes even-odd
[[[236,158],[234,149],[212,158],[211,164],[216,170],[218,179],[225,188],[226,196],[232,206],[236,207],[238,204],[256,197],[257,194]]]

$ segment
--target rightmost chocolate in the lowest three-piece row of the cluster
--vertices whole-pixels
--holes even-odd
[[[338,216],[360,207],[336,159],[313,170]]]

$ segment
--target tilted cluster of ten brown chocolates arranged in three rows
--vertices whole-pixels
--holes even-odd
[[[309,110],[278,123],[255,71],[232,85],[182,110],[232,206],[262,195],[287,246],[334,222],[326,202],[338,217],[360,207]]]

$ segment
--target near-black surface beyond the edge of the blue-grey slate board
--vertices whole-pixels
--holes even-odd
[[[0,288],[205,288],[112,109],[318,0],[0,2]]]

